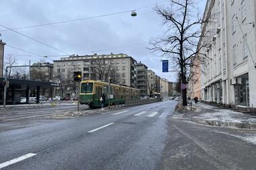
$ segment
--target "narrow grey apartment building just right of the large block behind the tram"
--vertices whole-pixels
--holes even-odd
[[[137,88],[140,89],[140,95],[148,94],[148,67],[139,62],[135,65],[137,69]]]

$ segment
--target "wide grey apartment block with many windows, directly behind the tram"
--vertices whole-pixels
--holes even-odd
[[[110,77],[114,84],[136,87],[137,61],[126,54],[83,55],[62,57],[54,61],[54,75],[60,80],[59,93],[64,96],[76,96],[76,82],[73,72],[82,72],[83,80],[100,80],[108,82]]]

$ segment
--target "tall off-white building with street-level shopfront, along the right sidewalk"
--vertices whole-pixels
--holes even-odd
[[[228,107],[256,106],[256,1],[208,0],[198,46],[200,51],[200,98]]]

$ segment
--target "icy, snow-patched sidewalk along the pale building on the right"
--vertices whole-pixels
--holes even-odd
[[[220,127],[256,129],[256,116],[202,103],[193,103],[192,111],[190,106],[177,108],[177,114],[173,115],[173,119],[190,119],[196,123]]]

